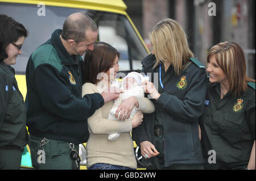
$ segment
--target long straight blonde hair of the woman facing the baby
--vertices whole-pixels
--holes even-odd
[[[154,68],[160,62],[169,62],[179,75],[189,65],[189,58],[194,57],[188,47],[187,35],[174,19],[164,19],[156,24],[151,31],[150,40],[156,57]]]

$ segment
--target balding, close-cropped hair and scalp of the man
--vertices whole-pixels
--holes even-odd
[[[86,40],[86,31],[98,31],[95,22],[83,12],[75,12],[68,16],[63,24],[63,39],[73,39],[77,43]]]

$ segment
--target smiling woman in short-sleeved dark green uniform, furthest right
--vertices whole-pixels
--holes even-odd
[[[255,80],[246,76],[242,48],[214,45],[207,71],[207,104],[200,119],[205,169],[255,169]],[[210,150],[216,158],[209,159]]]

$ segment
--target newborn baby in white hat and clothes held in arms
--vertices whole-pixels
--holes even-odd
[[[117,111],[118,106],[127,98],[130,98],[131,96],[137,96],[140,98],[144,97],[144,90],[141,86],[141,83],[146,80],[141,74],[132,71],[128,75],[126,75],[125,78],[123,78],[121,89],[123,89],[123,93],[119,95],[119,98],[114,101],[114,105],[112,109],[109,111],[109,117],[108,119],[114,119],[118,120],[118,118],[115,117],[115,112]],[[131,111],[131,115],[129,119],[133,119],[134,115],[138,112],[138,109],[136,106],[134,106],[133,110]],[[120,113],[120,112],[119,112]],[[119,117],[119,115],[118,115]],[[110,141],[115,141],[120,136],[120,133],[112,133],[109,134],[108,139]]]

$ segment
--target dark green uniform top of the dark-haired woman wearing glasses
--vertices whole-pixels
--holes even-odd
[[[14,69],[0,62],[0,149],[27,145],[26,106]]]

